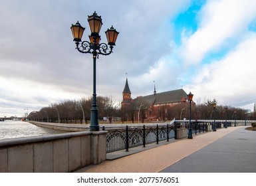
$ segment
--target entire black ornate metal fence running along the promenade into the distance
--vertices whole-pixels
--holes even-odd
[[[222,122],[223,123],[223,122]],[[148,143],[158,143],[159,141],[170,139],[176,139],[177,128],[182,126],[188,128],[188,122],[181,122],[174,126],[156,125],[156,126],[136,126],[126,128],[102,128],[102,130],[108,130],[106,136],[106,153],[112,151],[119,151],[129,148],[138,147],[143,145],[144,147]],[[225,123],[227,126],[231,126],[231,122]],[[192,124],[192,134],[201,134],[207,132],[207,126],[213,126],[213,122],[195,122]],[[221,128],[221,122],[215,122],[216,128]],[[225,126],[225,125],[224,125]]]

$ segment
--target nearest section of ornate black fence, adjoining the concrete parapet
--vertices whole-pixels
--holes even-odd
[[[143,126],[143,127],[128,127],[118,129],[105,129],[108,130],[106,136],[106,152],[118,151],[126,149],[128,151],[131,147],[144,147],[148,143],[158,143],[159,141],[169,141],[176,136],[174,126],[169,124],[164,126]]]

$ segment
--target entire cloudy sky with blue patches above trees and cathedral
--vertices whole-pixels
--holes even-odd
[[[97,3],[95,3],[97,2]],[[256,0],[1,0],[0,117],[23,116],[92,95],[92,55],[76,50],[70,26],[102,17],[120,32],[96,61],[96,94],[122,101],[183,88],[193,101],[253,110]]]

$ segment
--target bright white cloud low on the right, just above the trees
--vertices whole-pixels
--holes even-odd
[[[255,96],[256,33],[247,33],[245,39],[220,60],[205,64],[197,70],[193,90],[197,98],[216,98],[219,104],[233,105]]]

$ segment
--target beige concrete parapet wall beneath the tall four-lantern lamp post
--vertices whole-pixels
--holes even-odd
[[[106,160],[107,132],[72,132],[0,141],[0,172],[71,172]]]

